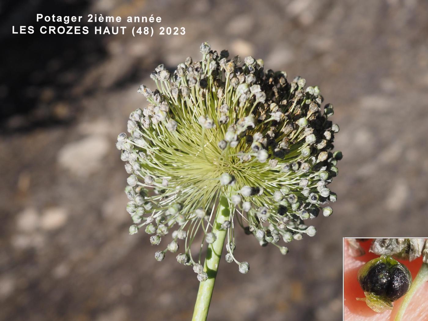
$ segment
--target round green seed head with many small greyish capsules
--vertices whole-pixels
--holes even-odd
[[[332,152],[339,126],[328,119],[331,104],[321,109],[318,87],[265,71],[261,59],[228,59],[206,42],[200,50],[201,61],[188,57],[172,74],[159,65],[151,75],[157,89],[140,86],[148,105],[131,113],[117,148],[130,175],[130,234],[145,231],[160,246],[156,260],[177,253],[202,282],[204,244],[219,236],[226,261],[248,272],[235,250],[236,226],[282,254],[285,244],[314,236],[305,222],[332,214],[323,205],[336,200],[327,186],[342,154]]]

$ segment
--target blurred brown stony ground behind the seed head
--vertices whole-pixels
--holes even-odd
[[[13,36],[36,13],[160,15],[185,36]],[[218,51],[318,84],[345,155],[330,218],[290,253],[238,237],[209,320],[342,319],[342,237],[427,237],[428,2],[2,1],[0,319],[189,320],[198,282],[128,235],[116,136],[159,63]]]

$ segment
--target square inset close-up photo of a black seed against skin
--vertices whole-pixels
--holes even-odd
[[[428,239],[344,238],[345,321],[428,320]]]

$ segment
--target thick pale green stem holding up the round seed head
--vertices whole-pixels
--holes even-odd
[[[204,271],[208,274],[208,279],[199,284],[198,296],[196,297],[195,309],[192,321],[205,321],[210,307],[211,296],[213,294],[214,282],[217,276],[218,265],[220,263],[221,252],[226,238],[226,229],[220,229],[221,224],[228,220],[230,216],[229,202],[225,196],[220,197],[217,214],[212,232],[217,239],[209,244],[207,256],[205,258]]]

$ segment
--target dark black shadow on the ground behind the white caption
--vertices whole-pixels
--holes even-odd
[[[83,26],[89,1],[2,1],[0,5],[0,131],[28,131],[72,121],[70,91],[87,71],[106,56],[104,36],[42,34],[41,26]],[[83,16],[68,24],[36,22],[36,15]],[[97,26],[103,24],[97,23]],[[20,26],[34,27],[33,34],[12,34]],[[7,62],[7,63],[5,63]],[[7,126],[6,126],[7,124]]]

